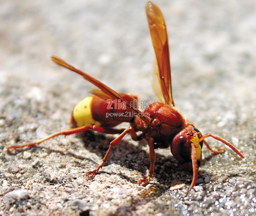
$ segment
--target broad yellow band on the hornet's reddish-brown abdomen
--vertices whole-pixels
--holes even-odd
[[[92,117],[91,103],[93,96],[84,98],[74,107],[73,115],[78,127],[84,125],[97,125],[100,126],[101,123],[97,122]]]

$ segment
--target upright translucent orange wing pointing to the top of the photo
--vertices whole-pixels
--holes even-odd
[[[146,5],[146,14],[152,44],[155,50],[155,57],[158,66],[158,79],[161,86],[162,96],[166,104],[174,105],[172,97],[168,35],[165,21],[159,7],[152,2],[148,2]]]

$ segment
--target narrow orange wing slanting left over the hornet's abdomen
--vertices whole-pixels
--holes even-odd
[[[57,65],[60,65],[62,67],[65,67],[75,73],[78,73],[79,75],[81,75],[84,79],[88,80],[90,83],[96,85],[99,89],[101,89],[102,91],[102,97],[106,97],[106,95],[108,95],[109,98],[115,98],[115,99],[120,99],[121,102],[125,102],[126,103],[126,107],[127,107],[127,111],[131,111],[131,112],[135,112],[137,114],[140,115],[140,117],[147,123],[149,124],[150,123],[150,120],[151,118],[149,118],[148,116],[142,116],[142,112],[139,111],[139,110],[135,110],[133,109],[131,106],[130,106],[130,103],[129,101],[126,101],[124,98],[121,97],[121,95],[117,92],[115,92],[113,89],[111,89],[110,87],[108,87],[107,85],[105,85],[104,83],[101,83],[101,81],[91,77],[90,75],[88,75],[87,73],[85,72],[82,72],[81,70],[79,69],[76,69],[75,67],[73,67],[72,65],[69,65],[67,62],[65,62],[64,60],[58,58],[58,57],[55,57],[55,56],[52,56],[51,57],[52,60],[57,64]],[[95,92],[95,91],[93,91]],[[103,94],[103,92],[105,94]]]

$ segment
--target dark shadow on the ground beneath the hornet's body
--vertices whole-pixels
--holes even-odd
[[[114,139],[114,137],[108,138],[104,134],[95,133],[93,131],[86,131],[78,136],[81,137],[84,142],[84,146],[88,151],[96,154],[102,159],[108,151],[109,143]],[[108,161],[104,164],[104,166],[109,164],[119,164],[121,167],[138,171],[141,173],[141,177],[144,178],[150,164],[149,154],[142,148],[147,146],[147,143],[143,141],[137,142],[138,146],[135,146],[126,140],[121,140],[121,142],[112,149],[108,157]],[[189,186],[192,181],[193,174],[189,173],[182,167],[181,164],[178,163],[178,161],[171,154],[170,147],[168,147],[163,153],[161,152],[156,150],[154,177],[157,179],[157,182],[165,184],[168,188],[170,187],[171,182],[174,180],[184,182]],[[97,165],[98,164],[95,164],[95,168],[97,168]],[[104,166],[99,173],[104,173]],[[137,183],[139,180],[139,178],[131,179],[125,174],[118,175],[126,178],[131,183]],[[210,173],[200,171],[199,169],[198,178],[206,175],[211,177]]]

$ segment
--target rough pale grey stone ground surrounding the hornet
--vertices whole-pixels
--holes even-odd
[[[52,54],[116,91],[155,100],[146,2],[109,2],[1,1],[0,215],[254,215],[255,0],[157,1],[168,26],[177,108],[203,133],[231,141],[245,160],[227,148],[218,156],[204,148],[189,190],[192,176],[169,149],[156,151],[153,181],[138,185],[148,172],[148,147],[128,136],[90,180],[85,172],[100,163],[115,136],[58,137],[7,155],[7,145],[68,128],[72,108],[93,88],[54,65]],[[174,180],[186,186],[170,191]]]

